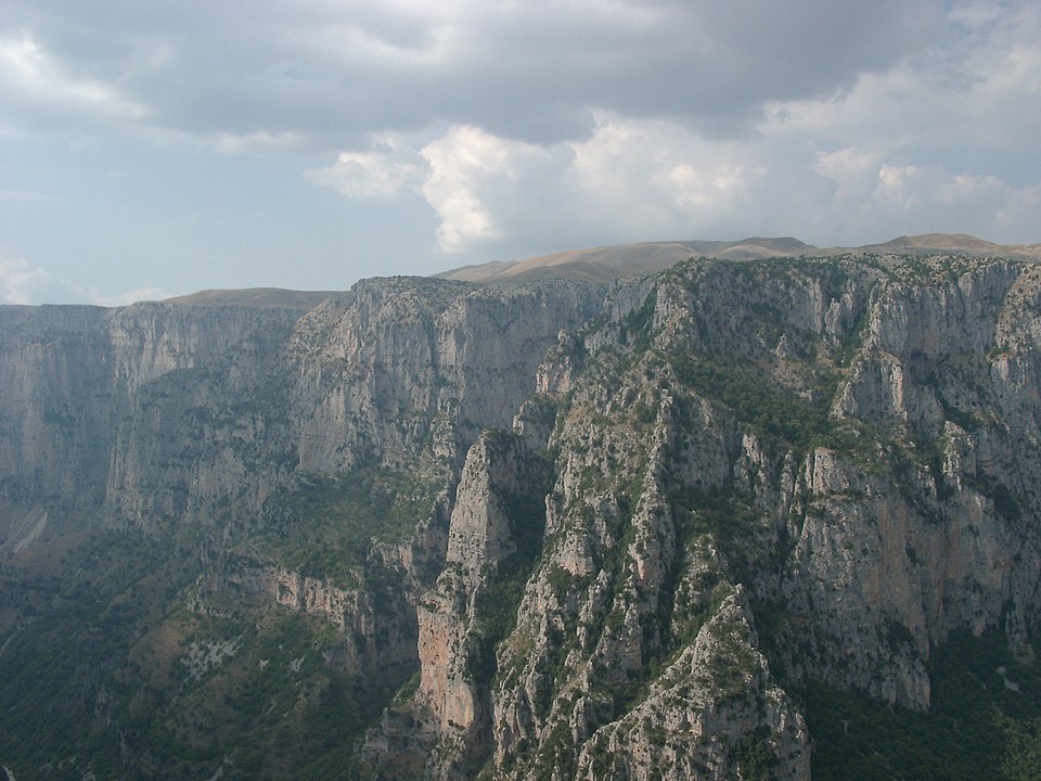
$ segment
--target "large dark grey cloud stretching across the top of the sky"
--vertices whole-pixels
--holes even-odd
[[[150,126],[337,148],[437,123],[547,143],[588,133],[590,108],[740,133],[764,101],[849,87],[943,29],[907,0],[14,0],[0,23]],[[39,120],[33,95],[7,102]]]

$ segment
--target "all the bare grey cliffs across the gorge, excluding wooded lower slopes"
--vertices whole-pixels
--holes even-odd
[[[174,539],[192,610],[416,669],[362,777],[808,779],[804,687],[1033,654],[1039,315],[1029,260],[863,254],[0,308],[2,546]]]

